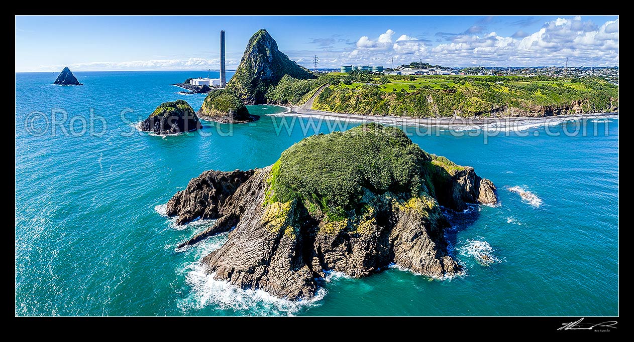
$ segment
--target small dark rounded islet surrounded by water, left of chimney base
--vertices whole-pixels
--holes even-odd
[[[190,132],[200,127],[198,116],[183,100],[162,103],[139,124],[141,130],[159,135]]]

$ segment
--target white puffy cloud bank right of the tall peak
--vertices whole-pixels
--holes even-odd
[[[387,30],[375,40],[365,35],[353,51],[342,53],[340,58],[346,64],[384,65],[390,65],[392,58],[395,64],[424,58],[428,63],[447,66],[563,65],[566,58],[570,65],[619,63],[618,19],[597,26],[580,16],[557,18],[536,32],[519,30],[509,37],[472,26],[463,34],[451,36],[450,42],[436,46],[403,33],[393,43],[385,44],[394,34]]]

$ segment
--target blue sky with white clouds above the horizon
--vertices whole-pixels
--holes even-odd
[[[312,67],[619,65],[618,16],[16,16],[15,71],[203,70],[266,28]]]

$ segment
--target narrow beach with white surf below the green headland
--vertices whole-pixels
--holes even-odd
[[[287,107],[287,106],[284,106]],[[268,114],[269,116],[293,116],[293,117],[315,117],[315,118],[332,118],[343,119],[344,121],[360,121],[360,122],[377,122],[378,124],[391,125],[424,125],[424,126],[465,126],[465,125],[488,125],[500,122],[526,122],[548,119],[573,119],[573,118],[593,118],[593,117],[618,117],[619,112],[613,113],[585,113],[585,114],[569,114],[569,115],[550,115],[547,117],[438,117],[438,118],[417,118],[417,117],[393,117],[389,115],[362,115],[362,114],[346,114],[333,113],[331,111],[309,110],[299,106],[287,107],[285,113]]]

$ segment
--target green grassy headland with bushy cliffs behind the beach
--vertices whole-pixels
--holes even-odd
[[[599,78],[489,75],[321,74],[285,77],[268,94],[272,103],[301,105],[321,85],[313,109],[365,115],[461,117],[557,115],[618,110],[619,88]],[[501,113],[501,114],[500,114]]]

